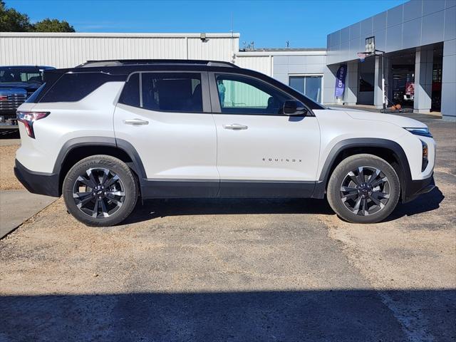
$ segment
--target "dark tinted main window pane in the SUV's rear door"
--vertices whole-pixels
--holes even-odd
[[[141,107],[170,112],[202,112],[199,73],[142,73]]]

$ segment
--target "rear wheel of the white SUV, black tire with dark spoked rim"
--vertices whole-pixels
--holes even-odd
[[[122,160],[93,155],[71,167],[63,180],[62,192],[68,212],[78,221],[93,227],[109,227],[122,222],[133,211],[138,182]]]

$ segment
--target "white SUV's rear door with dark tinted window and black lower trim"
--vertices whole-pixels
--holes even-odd
[[[212,197],[219,189],[217,135],[207,73],[133,73],[115,108],[118,143],[144,167],[143,197]]]

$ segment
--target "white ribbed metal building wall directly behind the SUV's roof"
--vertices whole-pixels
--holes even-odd
[[[239,33],[16,33],[0,32],[0,66],[71,68],[102,59],[232,61]]]

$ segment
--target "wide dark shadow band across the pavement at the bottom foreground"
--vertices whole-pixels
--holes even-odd
[[[0,341],[450,341],[455,299],[453,289],[0,296]]]

